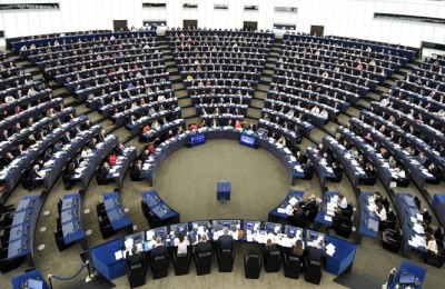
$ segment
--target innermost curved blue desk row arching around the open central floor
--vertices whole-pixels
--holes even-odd
[[[239,140],[241,134],[249,138],[254,138],[258,146],[274,157],[276,157],[283,166],[286,167],[290,176],[290,182],[294,182],[294,178],[301,179],[305,177],[300,163],[295,159],[291,151],[279,144],[275,139],[267,138],[267,136],[258,134],[256,132],[247,132],[241,129],[234,129],[233,127],[219,127],[219,128],[207,128],[199,129],[199,132],[205,134],[206,140],[212,139],[233,139]],[[154,185],[155,173],[157,168],[167,159],[170,155],[177,150],[187,146],[191,136],[195,132],[186,131],[172,139],[169,139],[156,148],[155,153],[152,153],[144,163],[142,170],[140,172],[140,179],[148,179],[150,186]]]

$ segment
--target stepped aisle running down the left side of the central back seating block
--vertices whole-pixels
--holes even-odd
[[[191,99],[187,94],[186,86],[180,78],[178,68],[175,62],[174,54],[167,43],[166,36],[158,36],[159,48],[162,52],[162,58],[166,61],[167,71],[170,73],[171,88],[175,89],[175,97],[178,98],[178,106],[181,108],[181,116],[186,119],[186,124],[199,123],[199,117],[196,114],[195,106],[191,104]]]

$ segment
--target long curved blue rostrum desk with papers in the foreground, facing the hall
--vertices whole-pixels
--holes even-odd
[[[127,263],[122,257],[130,249],[125,247],[128,238],[140,250],[149,253],[156,237],[160,237],[164,245],[172,249],[179,232],[187,236],[194,246],[202,235],[207,235],[210,241],[217,241],[224,228],[228,228],[236,241],[245,243],[266,243],[267,239],[273,239],[285,249],[291,248],[299,239],[305,246],[320,245],[327,255],[325,270],[333,275],[349,271],[354,263],[357,247],[355,243],[317,231],[256,220],[201,220],[149,229],[96,246],[91,248],[92,266],[107,279],[116,279],[126,275]]]

